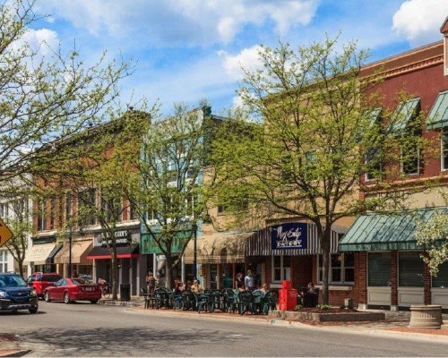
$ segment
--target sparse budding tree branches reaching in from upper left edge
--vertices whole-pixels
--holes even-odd
[[[86,65],[77,48],[64,53],[27,42],[41,16],[33,0],[0,4],[0,183],[24,174],[44,175],[51,160],[37,150],[97,124],[118,97],[118,83],[132,72],[123,61]],[[40,166],[36,166],[39,163]]]

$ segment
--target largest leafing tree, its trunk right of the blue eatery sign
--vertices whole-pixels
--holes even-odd
[[[340,46],[331,38],[307,47],[261,46],[258,69],[243,68],[243,109],[229,115],[212,143],[211,202],[233,209],[247,204],[234,225],[251,216],[316,226],[323,303],[332,224],[399,204],[402,194],[392,194],[392,183],[423,145],[418,115],[404,123],[403,111],[380,111],[383,79],[363,72],[367,57],[356,43]],[[408,96],[401,91],[396,104],[406,106]],[[366,195],[375,191],[382,194]]]

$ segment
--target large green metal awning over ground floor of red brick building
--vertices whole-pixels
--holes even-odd
[[[389,214],[366,214],[356,219],[339,243],[340,251],[422,250],[415,232],[419,220],[427,222],[436,210],[404,210]]]

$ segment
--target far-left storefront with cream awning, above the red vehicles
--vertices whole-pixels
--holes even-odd
[[[23,264],[28,267],[28,273],[57,272],[54,259],[61,248],[62,245],[56,244],[56,236],[35,238],[23,260]]]

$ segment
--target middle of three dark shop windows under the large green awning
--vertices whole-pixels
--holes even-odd
[[[419,252],[400,252],[398,269],[399,286],[423,287],[423,260]]]

